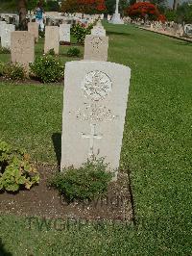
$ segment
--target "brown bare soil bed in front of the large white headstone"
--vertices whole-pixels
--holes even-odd
[[[37,166],[40,183],[30,191],[0,193],[0,214],[40,218],[75,218],[86,220],[132,221],[132,201],[126,172],[109,185],[108,194],[90,202],[67,204],[59,192],[47,187],[47,179],[57,171],[55,166]]]

